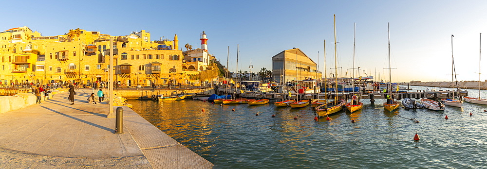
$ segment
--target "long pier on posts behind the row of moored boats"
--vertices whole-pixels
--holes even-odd
[[[218,95],[234,95],[235,89],[228,89],[228,88],[222,88],[219,87],[218,90],[215,90],[215,92],[218,92]],[[465,97],[468,96],[467,91],[421,91],[421,92],[402,92],[402,93],[393,93],[393,98],[394,99],[404,99],[404,98],[414,98],[414,99],[420,99],[420,98],[430,98],[433,100],[438,100],[438,99],[445,99],[445,98],[451,98],[453,93],[455,93],[455,96],[460,96],[460,97]],[[243,98],[261,98],[261,99],[296,99],[296,93],[292,93],[291,97],[289,97],[288,93],[268,93],[268,92],[252,92],[252,91],[244,91],[244,93],[241,93],[239,89],[237,89],[237,94],[242,96]],[[310,93],[310,94],[298,94],[299,99],[305,99],[305,100],[312,100],[312,99],[318,99],[318,94],[317,93]],[[338,97],[338,99],[345,99],[345,100],[350,100],[352,99],[352,96],[354,93],[328,93],[327,98],[333,99],[335,96]],[[359,98],[360,99],[370,99],[371,101],[374,101],[375,99],[386,99],[388,93],[360,93]],[[324,93],[319,93],[319,98],[324,99],[325,94]]]

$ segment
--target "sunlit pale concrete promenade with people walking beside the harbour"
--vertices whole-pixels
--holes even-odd
[[[0,168],[213,167],[126,106],[124,134],[114,134],[115,118],[106,118],[108,104],[86,103],[91,93],[77,90],[74,105],[64,92],[0,114]]]

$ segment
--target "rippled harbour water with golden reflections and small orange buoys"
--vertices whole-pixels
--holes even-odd
[[[468,91],[469,96],[478,96],[478,90]],[[487,91],[482,90],[481,95],[486,98]],[[330,121],[315,121],[309,106],[220,106],[192,100],[129,103],[150,123],[214,163],[215,168],[487,167],[487,112],[483,111],[487,105],[465,102],[462,108],[447,106],[445,112],[404,108],[387,112],[383,101],[376,99],[371,105],[364,100],[361,111],[342,111]],[[232,111],[234,107],[236,111]],[[263,113],[255,116],[257,112]],[[299,118],[293,119],[296,116]],[[356,123],[351,123],[352,119]],[[416,132],[419,141],[413,140]]]

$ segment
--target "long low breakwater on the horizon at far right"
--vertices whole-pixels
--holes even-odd
[[[431,87],[445,87],[451,88],[451,82],[408,82],[408,83],[398,83],[400,85],[417,85],[417,86],[431,86]],[[455,82],[455,88],[468,88],[468,89],[478,89],[479,82]],[[481,89],[487,89],[487,82],[480,82]]]

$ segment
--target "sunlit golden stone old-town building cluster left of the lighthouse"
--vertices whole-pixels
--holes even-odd
[[[42,36],[28,27],[0,32],[0,82],[108,81],[110,47],[113,79],[122,85],[192,83],[187,75],[192,72],[187,65],[183,68],[183,52],[177,50],[177,35],[174,40],[151,41],[145,30],[113,36],[78,28]]]

